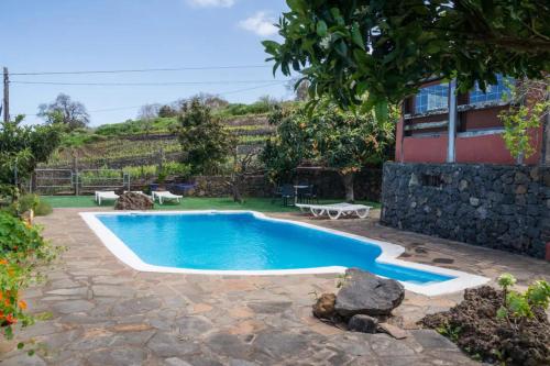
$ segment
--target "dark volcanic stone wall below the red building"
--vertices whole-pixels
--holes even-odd
[[[385,225],[543,258],[550,167],[386,163]]]

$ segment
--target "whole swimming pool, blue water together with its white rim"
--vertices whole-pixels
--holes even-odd
[[[431,295],[484,279],[395,259],[404,252],[398,245],[251,211],[81,215],[119,259],[139,270],[289,275],[358,267]]]

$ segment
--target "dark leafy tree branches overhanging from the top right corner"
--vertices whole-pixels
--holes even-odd
[[[300,71],[314,96],[362,104],[386,118],[389,103],[427,78],[458,79],[482,90],[496,75],[539,78],[550,69],[550,3],[494,1],[287,0],[283,43],[264,41],[289,76]],[[363,99],[369,91],[369,99]]]

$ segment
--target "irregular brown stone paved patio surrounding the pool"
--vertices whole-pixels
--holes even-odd
[[[103,209],[105,210],[105,209]],[[395,311],[406,340],[348,333],[311,317],[312,292],[336,290],[336,275],[224,277],[138,273],[120,263],[77,209],[41,218],[44,234],[68,246],[43,286],[25,293],[52,319],[20,333],[37,356],[1,344],[2,365],[474,365],[433,331],[415,330],[422,314],[448,309],[461,293],[413,292]],[[298,214],[277,214],[309,220]],[[531,258],[380,226],[375,219],[316,221],[404,245],[407,260],[494,278],[510,271],[526,285],[549,278]]]

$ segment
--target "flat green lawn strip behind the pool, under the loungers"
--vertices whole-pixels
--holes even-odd
[[[41,199],[53,208],[88,208],[97,207],[94,196],[42,196]],[[270,198],[248,198],[243,204],[233,202],[230,198],[198,198],[184,197],[179,204],[155,203],[155,210],[254,210],[260,212],[293,212],[294,207],[283,207],[280,201],[272,204]],[[334,203],[342,200],[321,200],[320,203]],[[358,201],[358,203],[380,208],[378,202]],[[112,202],[105,202],[103,207],[111,207]]]

